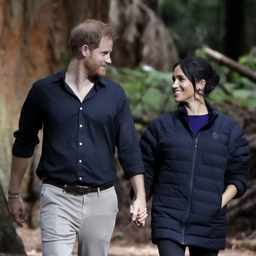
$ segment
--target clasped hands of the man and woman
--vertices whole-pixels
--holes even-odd
[[[132,221],[138,226],[145,226],[145,219],[147,218],[147,207],[145,199],[136,199],[133,200],[132,205],[130,206],[130,213]]]

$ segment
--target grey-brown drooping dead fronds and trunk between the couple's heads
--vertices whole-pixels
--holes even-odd
[[[179,57],[172,36],[156,15],[160,3],[160,0],[111,1],[110,24],[119,35],[112,54],[114,64],[124,68],[147,64],[170,72]]]

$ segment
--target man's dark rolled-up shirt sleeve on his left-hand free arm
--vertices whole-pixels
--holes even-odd
[[[42,128],[42,122],[38,100],[38,92],[34,84],[21,109],[19,130],[13,134],[15,141],[12,154],[17,157],[30,158],[34,154],[35,146],[39,143],[38,132]]]

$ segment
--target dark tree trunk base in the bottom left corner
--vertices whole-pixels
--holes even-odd
[[[0,252],[19,253],[26,255],[23,242],[17,235],[13,222],[11,221],[8,204],[0,183]]]

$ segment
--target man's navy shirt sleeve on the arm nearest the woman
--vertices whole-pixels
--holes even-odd
[[[145,169],[139,148],[139,139],[128,99],[124,92],[122,93],[120,108],[118,109],[114,124],[117,155],[125,177],[130,179],[137,174],[144,174]]]

